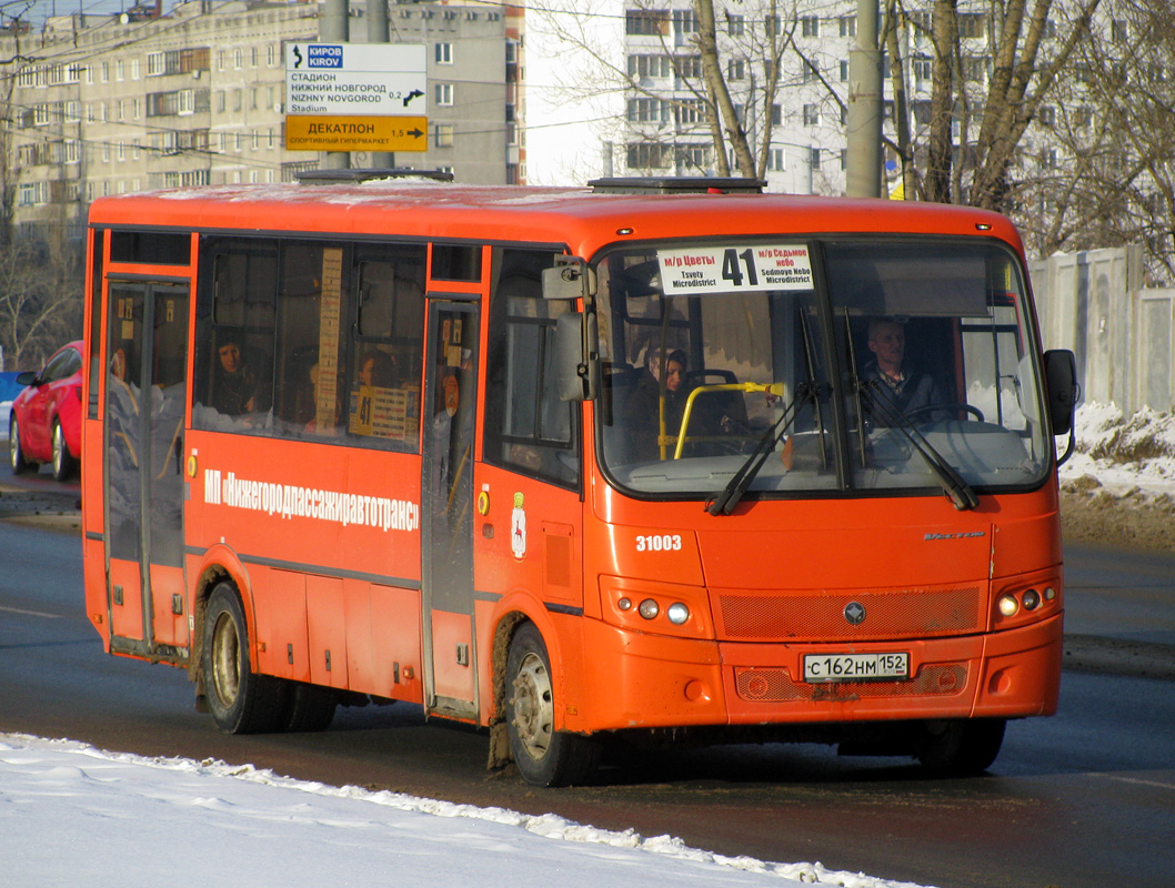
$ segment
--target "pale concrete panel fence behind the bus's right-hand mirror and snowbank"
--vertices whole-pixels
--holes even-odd
[[[1028,263],[1046,349],[1072,349],[1081,401],[1123,413],[1175,403],[1175,289],[1143,289],[1142,249]]]

